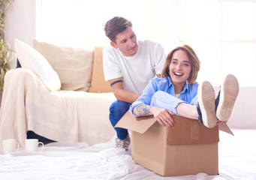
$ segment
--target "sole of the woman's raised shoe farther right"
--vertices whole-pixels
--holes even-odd
[[[220,121],[227,121],[230,118],[238,92],[239,85],[236,77],[228,74],[221,86],[221,95],[216,111],[216,116]]]

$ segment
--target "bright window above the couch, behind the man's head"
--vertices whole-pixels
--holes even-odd
[[[125,2],[125,5],[124,5]],[[105,45],[104,23],[115,16],[125,17],[137,28],[137,35],[149,37],[148,0],[41,0],[38,3],[37,37],[75,45]],[[137,17],[143,7],[143,13]]]

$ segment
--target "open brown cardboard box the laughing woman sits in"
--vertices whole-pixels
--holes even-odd
[[[176,115],[173,120],[173,127],[165,127],[153,116],[135,118],[127,112],[116,127],[132,130],[131,156],[146,169],[163,176],[218,175],[218,126]]]

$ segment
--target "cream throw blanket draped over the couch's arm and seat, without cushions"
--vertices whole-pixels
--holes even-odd
[[[106,142],[114,135],[108,120],[114,100],[113,93],[50,92],[32,71],[8,71],[0,110],[0,147],[2,139],[17,139],[24,147],[27,130],[58,142]]]

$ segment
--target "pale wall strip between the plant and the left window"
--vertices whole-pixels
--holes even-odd
[[[14,49],[15,38],[32,46],[35,37],[35,0],[11,1],[11,6],[5,10],[5,41]],[[17,65],[14,59],[11,68]]]

